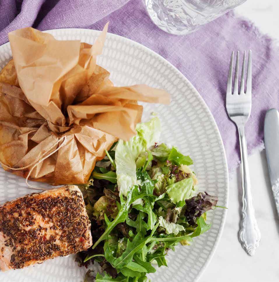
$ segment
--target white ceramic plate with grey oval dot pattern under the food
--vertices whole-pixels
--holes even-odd
[[[99,31],[90,29],[55,29],[49,31],[60,40],[93,43]],[[9,43],[0,46],[0,67],[11,58]],[[148,48],[115,34],[108,34],[103,55],[97,63],[110,71],[116,86],[145,83],[171,93],[171,105],[144,104],[146,120],[157,112],[162,123],[162,142],[177,146],[194,161],[193,170],[199,179],[200,191],[218,196],[218,205],[227,206],[229,183],[224,147],[217,125],[205,102],[192,84],[173,65]],[[29,194],[25,180],[0,168],[0,204]],[[177,246],[169,252],[169,267],[161,267],[149,275],[155,281],[197,281],[210,261],[222,234],[225,209],[208,213],[211,229],[194,238],[191,246]],[[48,260],[22,270],[0,273],[0,281],[81,282],[85,268],[74,262],[75,255]],[[208,280],[214,280],[214,277]]]

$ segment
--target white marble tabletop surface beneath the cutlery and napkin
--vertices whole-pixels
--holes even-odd
[[[279,41],[279,1],[248,0],[235,11]],[[279,95],[279,93],[278,93]],[[249,137],[248,137],[249,138]],[[217,250],[201,276],[201,282],[278,282],[279,219],[270,188],[265,151],[249,157],[252,194],[262,239],[253,257],[238,242],[241,173],[230,175],[227,220]]]

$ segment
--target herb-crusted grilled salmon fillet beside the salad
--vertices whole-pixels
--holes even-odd
[[[6,202],[0,206],[0,268],[19,269],[87,250],[90,228],[75,185]]]

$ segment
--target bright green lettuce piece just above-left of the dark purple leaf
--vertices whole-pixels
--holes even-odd
[[[185,178],[179,182],[171,184],[166,187],[166,193],[173,203],[179,203],[192,197],[193,190],[193,178]]]

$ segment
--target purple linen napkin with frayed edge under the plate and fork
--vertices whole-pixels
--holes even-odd
[[[41,30],[62,27],[102,29],[110,21],[109,32],[137,41],[159,53],[191,81],[217,122],[229,170],[236,168],[240,159],[238,136],[225,110],[231,51],[252,49],[252,113],[246,126],[248,152],[251,152],[263,144],[266,110],[279,106],[276,77],[279,73],[278,48],[252,23],[232,12],[193,34],[175,36],[152,23],[142,0],[127,2],[4,0],[0,2],[0,43],[8,41],[8,32],[21,27],[33,26]]]

